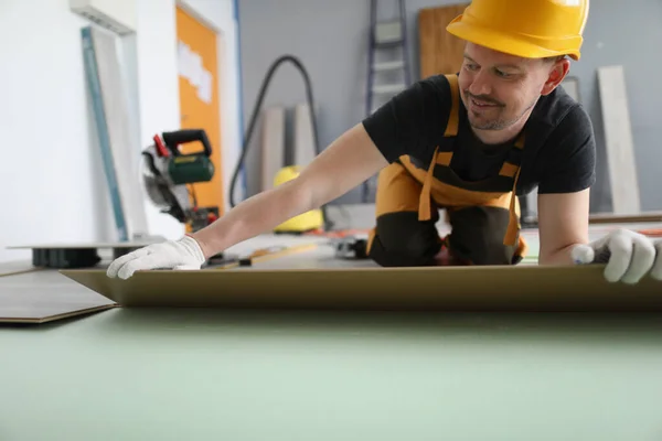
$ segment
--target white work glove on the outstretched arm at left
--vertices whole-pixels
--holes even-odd
[[[128,279],[135,271],[145,269],[195,270],[200,269],[205,260],[197,241],[184,236],[179,240],[148,245],[118,257],[110,263],[106,275]]]

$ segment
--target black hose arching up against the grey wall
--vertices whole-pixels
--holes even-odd
[[[321,153],[319,136],[318,136],[317,117],[314,115],[314,100],[312,97],[312,86],[310,84],[310,76],[308,75],[308,71],[306,71],[306,67],[303,67],[303,64],[299,61],[299,58],[297,58],[293,55],[282,55],[278,60],[276,60],[274,62],[274,64],[271,64],[271,67],[269,67],[269,71],[267,72],[267,75],[265,76],[265,79],[263,80],[259,94],[257,96],[257,101],[255,104],[255,108],[253,109],[253,115],[250,116],[248,131],[246,132],[246,138],[244,139],[244,147],[242,148],[242,155],[239,157],[239,160],[237,161],[237,165],[235,166],[234,173],[232,175],[232,182],[229,184],[229,205],[233,208],[236,205],[235,200],[234,200],[234,193],[235,193],[235,186],[237,183],[237,178],[239,175],[239,170],[242,168],[242,164],[246,160],[246,153],[248,152],[248,146],[250,144],[250,139],[253,138],[253,131],[255,130],[257,117],[259,115],[263,101],[265,99],[265,95],[267,93],[267,87],[268,87],[269,83],[271,82],[271,77],[276,73],[276,69],[285,62],[292,63],[295,65],[295,67],[297,67],[299,69],[299,72],[301,73],[301,76],[303,77],[303,82],[306,83],[306,96],[308,99],[308,109],[310,111],[310,121],[312,123],[312,138],[313,138],[313,142],[314,142],[314,150],[316,150],[316,154]],[[331,229],[331,222],[329,220],[329,217],[327,216],[325,205],[321,206],[321,211],[322,211],[322,217],[324,219],[324,229],[329,230],[329,229]]]

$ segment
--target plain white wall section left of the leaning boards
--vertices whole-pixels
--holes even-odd
[[[7,245],[93,240],[105,181],[90,149],[79,29],[66,0],[0,6],[0,259]]]

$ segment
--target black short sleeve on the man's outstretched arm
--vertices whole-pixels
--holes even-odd
[[[403,154],[431,159],[450,111],[450,86],[444,75],[419,80],[363,120],[363,127],[392,163]]]

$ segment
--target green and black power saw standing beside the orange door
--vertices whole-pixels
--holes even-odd
[[[204,228],[218,216],[218,207],[199,207],[191,184],[214,176],[212,146],[203,129],[166,131],[154,135],[153,144],[142,151],[142,180],[148,196],[161,213],[186,224],[191,230]],[[180,144],[200,141],[202,151],[182,153]]]

